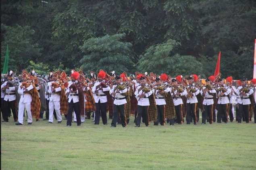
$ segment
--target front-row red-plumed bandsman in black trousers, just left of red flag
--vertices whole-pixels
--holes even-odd
[[[205,80],[206,85],[200,91],[202,96],[204,96],[203,106],[204,111],[202,112],[202,124],[206,124],[206,118],[209,118],[209,123],[213,123],[213,106],[214,97],[216,98],[216,90],[212,89],[210,85],[210,79]]]

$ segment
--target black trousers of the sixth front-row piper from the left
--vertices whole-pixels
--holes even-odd
[[[119,118],[119,113],[120,113],[121,124],[123,127],[125,127],[126,126],[125,104],[122,104],[122,105],[114,104],[113,110],[114,110],[114,112],[113,112],[113,119],[111,122],[111,126],[114,126],[114,127],[117,126],[117,120]]]

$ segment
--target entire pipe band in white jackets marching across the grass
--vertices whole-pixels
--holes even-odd
[[[29,125],[32,117],[43,118],[48,123],[62,123],[65,115],[67,126],[93,118],[94,124],[104,125],[112,119],[110,127],[117,124],[126,127],[131,115],[135,116],[135,127],[141,122],[149,126],[228,123],[245,121],[249,123],[254,114],[256,79],[246,78],[233,81],[232,77],[222,79],[221,75],[200,79],[200,76],[178,75],[171,78],[166,74],[147,72],[128,76],[125,72],[116,75],[100,70],[89,76],[81,70],[71,70],[71,76],[60,70],[49,75],[38,75],[34,70],[23,70],[18,77],[10,71],[1,79],[2,122],[8,122],[12,112],[16,125],[23,125],[24,118]],[[25,114],[26,110],[26,114]],[[236,116],[235,116],[236,110]],[[74,112],[74,116],[73,116]],[[72,120],[73,118],[73,120]]]

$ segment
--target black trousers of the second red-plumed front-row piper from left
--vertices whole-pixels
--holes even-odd
[[[102,118],[102,123],[103,124],[107,124],[108,120],[107,120],[107,113],[106,113],[106,109],[107,109],[107,102],[105,103],[100,103],[100,100],[98,103],[96,104],[96,112],[95,112],[95,122],[94,124],[100,124],[100,115]]]

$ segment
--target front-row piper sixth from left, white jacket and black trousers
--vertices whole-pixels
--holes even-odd
[[[113,85],[109,93],[114,97],[114,112],[113,119],[111,122],[111,127],[117,126],[117,120],[120,114],[120,120],[123,127],[126,126],[126,116],[125,116],[125,104],[127,87],[124,87],[124,83],[121,82],[120,76],[115,77],[116,85]]]

